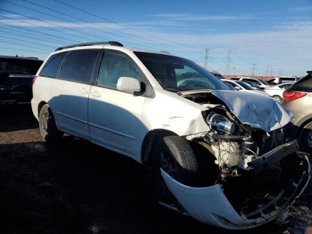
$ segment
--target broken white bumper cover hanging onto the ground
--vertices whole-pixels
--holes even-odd
[[[304,169],[301,178],[296,183],[290,183],[293,186],[291,195],[284,189],[270,202],[259,204],[258,209],[248,214],[242,210],[238,214],[220,184],[195,188],[179,183],[162,169],[161,175],[177,201],[197,221],[225,229],[250,229],[277,218],[303,193],[311,177],[311,167],[307,156],[302,156],[301,160],[305,164]]]

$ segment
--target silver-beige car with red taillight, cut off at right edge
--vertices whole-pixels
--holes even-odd
[[[300,138],[301,146],[312,152],[312,71],[283,93],[282,104],[294,115],[293,137]]]

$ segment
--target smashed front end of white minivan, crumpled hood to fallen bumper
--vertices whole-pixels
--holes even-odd
[[[194,185],[161,169],[176,203],[164,204],[226,229],[249,229],[283,215],[310,180],[308,157],[284,136],[292,114],[273,98],[228,90],[177,93],[200,104],[208,131],[185,137],[203,167]],[[196,123],[194,123],[196,124]],[[207,162],[213,165],[207,166]]]

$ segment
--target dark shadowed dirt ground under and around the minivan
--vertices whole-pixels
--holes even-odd
[[[30,105],[0,106],[1,234],[238,233],[155,202],[151,173],[86,140],[44,142]],[[284,223],[240,233],[311,233],[312,185]],[[310,231],[309,231],[310,229]]]

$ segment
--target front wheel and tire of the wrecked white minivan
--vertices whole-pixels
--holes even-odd
[[[196,186],[199,181],[197,158],[188,141],[182,137],[161,137],[154,148],[153,164],[158,199],[165,203],[171,204],[175,198],[167,188],[160,168],[182,184]]]

